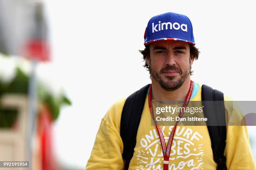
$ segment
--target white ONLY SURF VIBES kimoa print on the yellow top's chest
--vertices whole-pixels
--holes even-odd
[[[164,134],[168,132],[168,137],[164,135],[166,143],[169,140],[172,128],[173,126],[170,126],[169,129],[165,126],[162,128]],[[190,128],[178,126],[170,152],[169,170],[180,170],[183,168],[188,170],[202,169],[202,164],[204,163],[203,144],[200,143],[202,138],[202,135],[198,132],[193,132]],[[156,129],[150,130],[148,134],[141,138],[140,145],[144,149],[138,150],[135,153],[137,160],[136,170],[163,170],[164,155]],[[161,154],[157,154],[159,149]],[[174,160],[175,163],[172,163]]]

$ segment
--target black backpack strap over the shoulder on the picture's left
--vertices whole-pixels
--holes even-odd
[[[131,94],[123,106],[120,122],[120,136],[123,140],[123,159],[128,170],[136,145],[138,126],[141,121],[146,95],[150,84]]]

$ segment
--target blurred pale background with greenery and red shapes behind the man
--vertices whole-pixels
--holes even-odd
[[[169,11],[192,21],[192,80],[256,100],[252,1],[0,0],[0,161],[84,170],[108,108],[150,83],[138,50],[148,20]]]

